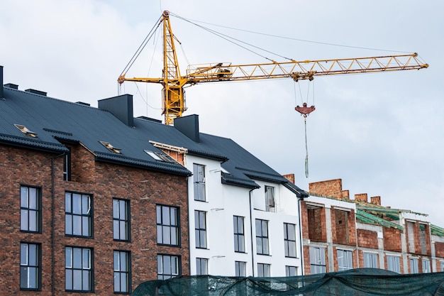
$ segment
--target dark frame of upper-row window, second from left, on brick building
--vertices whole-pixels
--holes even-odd
[[[67,198],[68,194],[70,195],[70,212],[67,209]],[[74,214],[73,211],[73,205],[74,205],[74,194],[75,196],[79,196],[80,198],[80,214]],[[89,210],[86,214],[83,213],[83,203],[84,203],[84,197],[88,197],[89,199]],[[74,216],[79,216],[81,221],[81,234],[74,234]],[[70,218],[71,224],[71,233],[68,233],[68,219]],[[84,219],[88,221],[88,231],[89,234],[84,234]],[[87,194],[87,193],[81,193],[81,192],[71,192],[67,191],[65,192],[65,236],[74,236],[74,237],[83,237],[83,238],[89,238],[94,239],[94,197],[93,194]]]

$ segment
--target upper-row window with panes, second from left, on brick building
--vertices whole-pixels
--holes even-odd
[[[65,193],[65,234],[92,236],[91,204],[87,194]]]

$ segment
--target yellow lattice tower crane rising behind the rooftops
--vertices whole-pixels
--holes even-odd
[[[184,100],[184,86],[203,82],[265,80],[270,78],[292,78],[313,80],[315,76],[340,75],[367,72],[387,72],[397,70],[419,70],[428,64],[418,59],[418,54],[385,55],[378,57],[352,57],[333,60],[304,60],[289,62],[267,62],[260,64],[232,65],[213,63],[189,65],[187,74],[179,71],[174,34],[172,33],[169,11],[162,13],[163,23],[163,70],[161,78],[118,77],[118,83],[125,81],[160,83],[162,89],[162,114],[165,124],[173,124],[174,118],[187,110]]]

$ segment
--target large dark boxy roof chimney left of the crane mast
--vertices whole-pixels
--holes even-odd
[[[127,126],[134,126],[133,96],[131,94],[100,99],[98,103],[99,109],[109,111]]]

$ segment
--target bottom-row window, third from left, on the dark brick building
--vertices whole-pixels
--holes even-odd
[[[130,292],[130,253],[114,251],[114,292]]]

